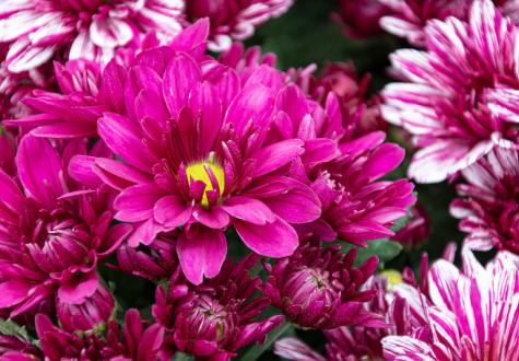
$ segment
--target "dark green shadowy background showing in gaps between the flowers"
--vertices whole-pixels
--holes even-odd
[[[373,75],[370,92],[376,93],[391,81],[387,75],[389,66],[388,55],[397,48],[408,45],[390,35],[381,35],[365,39],[353,39],[343,36],[341,26],[331,19],[331,13],[338,10],[334,0],[297,0],[295,5],[283,16],[260,27],[249,39],[247,46],[259,45],[263,53],[272,51],[278,56],[281,69],[306,67],[316,63],[319,68],[330,61],[353,61],[362,75],[369,72]],[[388,135],[389,140],[401,139],[394,129]],[[409,164],[409,144],[400,142],[408,149],[406,161],[391,174],[391,177],[402,177]],[[402,269],[410,266],[420,267],[421,255],[427,252],[429,259],[440,257],[449,242],[462,240],[457,230],[457,221],[448,213],[449,202],[455,197],[453,187],[447,184],[417,186],[418,202],[428,212],[432,222],[432,234],[427,243],[414,251],[402,251],[398,244],[385,240],[374,241],[367,249],[362,249],[359,256],[367,258],[376,254],[384,260],[385,269]],[[404,221],[396,226],[401,226]],[[232,232],[228,237],[236,238]],[[245,246],[236,238],[229,243],[229,255],[239,259],[247,253]],[[345,245],[344,248],[349,246]],[[114,290],[117,302],[122,308],[138,307],[144,317],[151,316],[151,305],[154,302],[156,284],[142,279],[127,277],[108,267],[102,269],[102,276]],[[117,284],[117,288],[115,287]],[[268,310],[268,313],[274,310]],[[238,360],[279,360],[271,351],[273,340],[280,336],[297,335],[314,349],[322,351],[325,339],[318,331],[294,329],[282,325],[271,333],[264,345],[252,347],[238,356]],[[190,357],[178,354],[175,360],[190,360]]]

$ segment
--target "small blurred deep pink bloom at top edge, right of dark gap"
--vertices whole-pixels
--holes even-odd
[[[345,35],[363,38],[384,32],[379,21],[389,9],[380,0],[339,0],[339,5],[333,18],[344,25]]]

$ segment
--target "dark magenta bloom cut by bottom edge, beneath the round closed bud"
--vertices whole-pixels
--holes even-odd
[[[156,361],[164,339],[164,329],[142,321],[137,310],[126,313],[123,327],[111,321],[106,329],[87,334],[67,331],[39,314],[36,333],[45,360]]]

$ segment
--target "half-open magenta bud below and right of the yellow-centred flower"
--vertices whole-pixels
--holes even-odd
[[[380,317],[363,306],[377,292],[363,290],[362,286],[377,268],[378,258],[369,258],[358,268],[353,266],[355,258],[355,249],[346,255],[339,245],[323,249],[306,244],[274,266],[264,264],[269,278],[263,294],[291,322],[303,327],[384,327]]]

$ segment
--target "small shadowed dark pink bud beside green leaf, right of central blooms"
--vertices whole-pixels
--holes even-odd
[[[424,244],[430,235],[430,220],[423,207],[415,205],[409,214],[405,225],[391,236],[404,248],[415,248]]]

